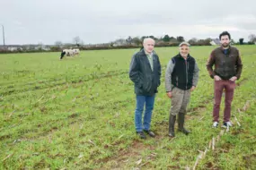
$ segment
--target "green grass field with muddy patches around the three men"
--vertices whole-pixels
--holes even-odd
[[[192,169],[206,149],[197,169],[256,169],[256,47],[238,47],[243,74],[234,127],[223,135],[211,128],[213,80],[205,65],[213,48],[191,47],[200,69],[186,116],[191,134],[174,139],[167,136],[171,101],[163,77],[178,48],[155,48],[163,67],[152,119],[157,137],[146,140],[135,133],[128,78],[138,49],[82,51],[63,61],[59,53],[0,55],[0,169]]]

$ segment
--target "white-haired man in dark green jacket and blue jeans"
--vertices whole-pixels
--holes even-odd
[[[160,86],[161,65],[158,55],[154,52],[154,39],[145,38],[144,49],[133,55],[129,78],[134,82],[137,106],[135,110],[136,132],[141,139],[146,139],[146,132],[154,137],[154,132],[150,130],[152,111],[154,108],[154,97],[157,88]],[[142,113],[146,106],[144,122],[142,123]]]

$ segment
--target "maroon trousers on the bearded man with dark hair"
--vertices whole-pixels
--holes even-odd
[[[224,89],[225,89],[224,123],[230,121],[231,103],[234,96],[234,88],[235,88],[234,81],[229,81],[229,80],[215,81],[214,83],[215,104],[213,109],[213,122],[218,122],[219,106],[221,103],[221,97]]]

